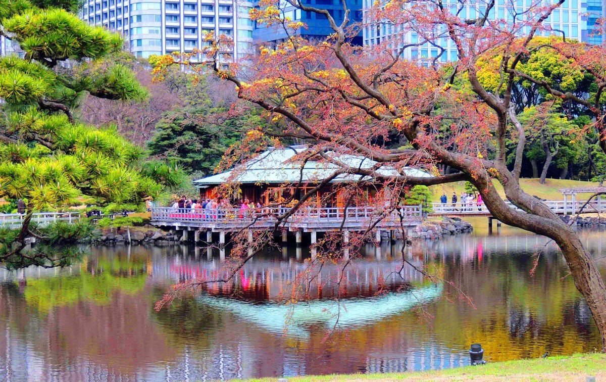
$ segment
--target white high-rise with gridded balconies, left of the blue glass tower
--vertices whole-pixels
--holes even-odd
[[[214,32],[233,38],[231,55],[238,58],[252,48],[252,6],[241,0],[84,0],[82,19],[121,33],[138,57],[202,49]]]

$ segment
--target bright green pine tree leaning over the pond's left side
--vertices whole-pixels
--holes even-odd
[[[141,171],[142,149],[112,127],[75,118],[86,93],[125,101],[147,96],[130,70],[112,63],[125,54],[121,36],[86,24],[77,10],[77,0],[0,0],[0,34],[24,52],[0,58],[0,197],[27,204],[21,229],[0,232],[0,265],[8,268],[66,265],[78,252],[61,243],[90,235],[86,224],[36,229],[33,212],[75,199],[137,204],[162,192]],[[27,249],[28,235],[41,245]]]

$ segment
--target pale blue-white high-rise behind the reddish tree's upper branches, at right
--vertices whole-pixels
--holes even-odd
[[[375,0],[363,1],[363,17],[365,18],[367,12],[366,10],[373,6]],[[596,19],[601,17],[601,2],[603,0],[588,1],[589,2],[587,3],[582,3],[579,0],[565,0],[564,4],[562,4],[561,7],[554,9],[551,15],[544,22],[544,25],[551,26],[551,31],[544,30],[537,33],[537,35],[548,36],[555,33],[561,35],[561,32],[556,32],[556,30],[561,30],[565,33],[566,37],[570,39],[590,42],[592,44],[601,43],[602,36],[593,33],[593,28],[596,23]],[[591,1],[594,1],[595,4]],[[516,13],[518,15],[524,14],[525,10],[527,10],[528,7],[534,3],[536,3],[535,0],[496,0],[496,4],[490,10],[490,12],[488,12],[488,18],[492,20],[505,20],[512,22]],[[461,3],[457,0],[445,0],[445,4],[453,7],[453,10],[458,9],[458,7],[461,5]],[[487,1],[483,0],[467,2],[465,7],[462,8],[461,12],[459,13],[459,17],[462,19],[474,19],[478,17],[478,15],[484,14],[486,4]],[[599,16],[596,17],[596,15]],[[524,33],[528,32],[530,32],[530,27],[525,27]],[[402,33],[400,25],[394,25],[389,22],[365,24],[365,27],[362,30],[362,35],[365,46],[373,46],[384,41],[391,41],[393,43],[394,50],[398,50],[404,46],[404,44],[416,44],[419,42],[419,36],[416,33]],[[397,36],[397,38],[395,36]],[[434,41],[434,43],[435,42],[436,41]],[[439,61],[456,61],[456,48],[450,39],[439,38],[436,45],[439,45],[440,48],[427,42],[419,45],[418,47],[408,47],[404,50],[403,58],[408,60],[424,58],[432,59],[438,57],[442,49],[444,49],[445,52],[439,56]]]

